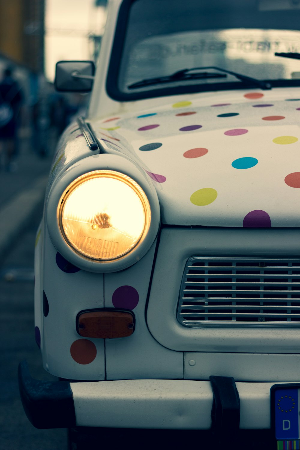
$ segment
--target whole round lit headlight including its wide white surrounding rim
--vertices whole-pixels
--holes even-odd
[[[123,270],[154,242],[160,224],[152,180],[125,157],[82,159],[50,181],[49,236],[74,266],[91,272]]]

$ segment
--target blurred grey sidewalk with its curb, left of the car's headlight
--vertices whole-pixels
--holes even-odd
[[[13,172],[0,168],[0,265],[4,252],[43,201],[52,154],[41,158],[29,138],[19,141]]]

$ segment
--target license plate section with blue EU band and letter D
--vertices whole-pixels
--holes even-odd
[[[300,383],[271,387],[271,423],[278,450],[300,450]]]

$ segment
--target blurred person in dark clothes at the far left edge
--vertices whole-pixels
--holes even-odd
[[[0,156],[7,171],[13,170],[13,158],[17,154],[19,112],[23,94],[13,78],[13,70],[7,67],[0,82]]]

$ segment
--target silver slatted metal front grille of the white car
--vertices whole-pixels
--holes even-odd
[[[177,320],[188,327],[300,326],[300,259],[192,257]]]

